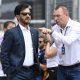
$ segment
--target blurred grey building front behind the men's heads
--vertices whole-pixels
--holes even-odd
[[[80,21],[80,0],[0,0],[0,31],[5,21],[15,21],[13,11],[20,2],[27,2],[32,6],[31,25],[36,28],[50,28],[54,23],[52,11],[57,4],[66,5],[70,11],[70,17]]]

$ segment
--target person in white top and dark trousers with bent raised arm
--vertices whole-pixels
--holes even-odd
[[[47,69],[49,72],[49,80],[57,80],[57,72],[58,72],[58,64],[59,64],[59,56],[57,54],[57,47],[52,39],[50,38],[50,34],[46,34],[47,39],[49,39],[46,50],[45,56],[47,60]],[[51,55],[50,55],[51,54]],[[54,54],[54,55],[53,55]]]

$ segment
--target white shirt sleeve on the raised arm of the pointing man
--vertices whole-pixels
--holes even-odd
[[[69,34],[65,36],[61,33],[54,31],[52,33],[52,37],[57,42],[61,42],[66,45],[71,45],[73,42],[80,38],[80,27],[72,29],[72,31],[70,31]]]

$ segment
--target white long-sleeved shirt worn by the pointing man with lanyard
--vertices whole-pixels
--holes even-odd
[[[54,30],[52,36],[58,48],[59,64],[63,66],[80,63],[80,23],[69,19],[67,26],[67,31],[65,28],[62,33],[58,25],[52,28]],[[65,31],[66,34],[64,35]],[[61,52],[63,44],[65,46],[64,55]]]

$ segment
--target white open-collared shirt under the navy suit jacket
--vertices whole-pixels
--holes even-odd
[[[19,26],[22,30],[25,42],[25,59],[23,62],[23,66],[32,66],[34,64],[34,57],[33,57],[33,47],[32,47],[30,28],[28,27],[28,29],[26,29],[20,24]]]

